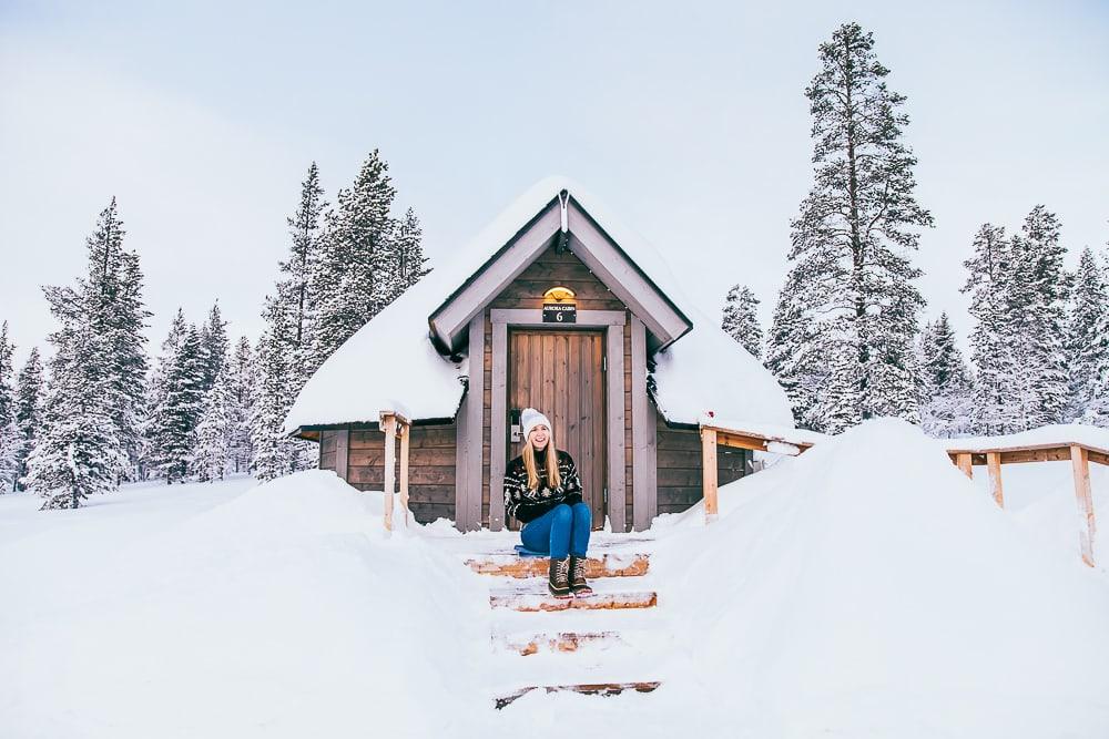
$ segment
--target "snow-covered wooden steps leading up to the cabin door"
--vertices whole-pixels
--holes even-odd
[[[661,685],[643,658],[661,626],[649,554],[599,552],[586,566],[593,593],[569,598],[548,592],[546,557],[490,553],[466,564],[490,576],[490,636],[506,676],[495,688],[495,708],[531,692],[603,697]]]

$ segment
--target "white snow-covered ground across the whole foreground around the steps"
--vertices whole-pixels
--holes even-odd
[[[1069,465],[1004,475],[1000,511],[868,422],[723,487],[708,528],[698,506],[628,542],[658,608],[562,616],[489,609],[498,578],[462,558],[512,534],[387,538],[379,495],[329,472],[0,496],[0,736],[1107,737],[1109,576],[1080,563]],[[625,638],[495,653],[533,624]],[[662,686],[491,709],[596,661]]]

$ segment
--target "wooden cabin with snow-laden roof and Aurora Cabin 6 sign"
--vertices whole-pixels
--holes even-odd
[[[594,525],[613,532],[753,471],[766,434],[706,450],[706,419],[793,428],[770,372],[577,183],[541,181],[451,252],[324,362],[285,423],[318,442],[322,469],[383,490],[401,419],[416,521],[515,527],[501,481],[529,406],[576,460]]]

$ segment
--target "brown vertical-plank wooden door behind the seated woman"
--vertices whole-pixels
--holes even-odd
[[[593,528],[604,525],[603,358],[601,331],[509,331],[508,408],[535,408],[551,420],[554,447],[569,452],[578,465]],[[511,423],[507,427],[511,434]],[[509,460],[521,453],[522,440],[506,442]]]

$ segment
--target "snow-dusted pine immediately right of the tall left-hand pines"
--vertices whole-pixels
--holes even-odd
[[[195,325],[184,329],[164,371],[163,394],[151,414],[150,461],[155,476],[173,484],[189,474],[204,403],[204,348]]]

